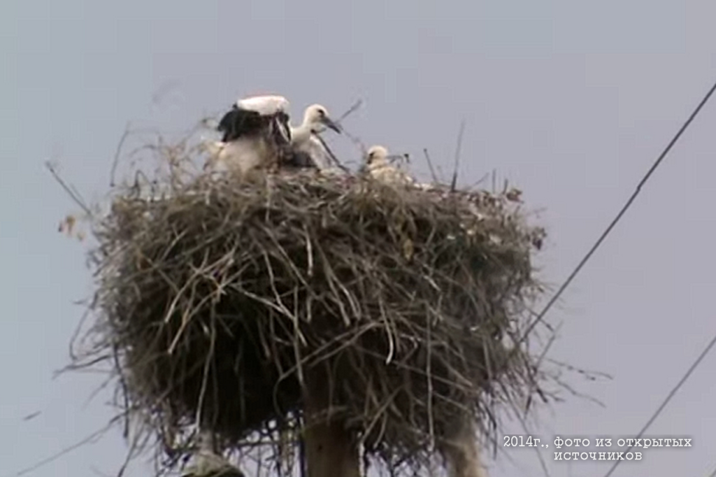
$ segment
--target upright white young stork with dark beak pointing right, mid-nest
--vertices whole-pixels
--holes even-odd
[[[341,133],[341,128],[331,119],[325,107],[307,107],[301,125],[291,127],[291,148],[294,153],[292,165],[316,167],[320,170],[331,168],[331,155],[317,137],[326,127]]]

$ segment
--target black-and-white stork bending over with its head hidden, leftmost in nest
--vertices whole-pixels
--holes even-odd
[[[282,96],[254,96],[238,100],[218,124],[221,142],[208,143],[207,165],[221,163],[246,175],[279,163],[291,143],[289,101]]]

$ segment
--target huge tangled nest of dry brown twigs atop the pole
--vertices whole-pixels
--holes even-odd
[[[489,435],[496,405],[541,392],[508,339],[541,291],[544,236],[514,191],[313,172],[158,184],[120,188],[93,224],[92,334],[168,454],[198,423],[225,449],[286,444],[313,375],[367,456],[419,469],[456,415]]]

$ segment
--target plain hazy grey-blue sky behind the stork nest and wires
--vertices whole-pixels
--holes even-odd
[[[9,0],[1,11],[0,477],[112,413],[107,393],[87,404],[102,377],[52,379],[82,314],[72,302],[92,287],[84,249],[57,233],[74,205],[44,160],[99,196],[127,120],[173,132],[238,96],[279,92],[294,115],[311,102],[339,114],[362,97],[352,133],[415,157],[428,148],[448,169],[464,118],[463,181],[496,168],[546,209],[540,264],[556,284],[716,78],[708,0]],[[563,322],[551,357],[614,380],[568,375],[606,407],[570,398],[542,410],[543,438],[634,435],[716,332],[715,122],[716,102],[551,312]],[[615,477],[716,467],[715,367],[716,353],[648,433],[693,447],[644,450]],[[113,474],[125,449],[115,430],[33,475]],[[610,465],[553,462],[551,450],[553,477]],[[492,477],[541,475],[533,450],[488,465]],[[129,475],[149,474],[138,464]]]

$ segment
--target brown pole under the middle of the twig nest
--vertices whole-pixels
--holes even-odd
[[[326,418],[329,405],[328,377],[306,373],[303,438],[307,477],[360,477],[354,435],[341,420]]]

